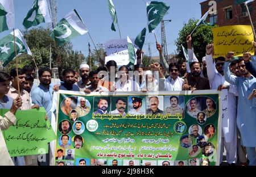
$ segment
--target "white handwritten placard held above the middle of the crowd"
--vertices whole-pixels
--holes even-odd
[[[133,42],[135,52],[137,52],[138,47],[134,44],[134,39],[131,39],[131,41]],[[117,62],[118,66],[129,64],[127,39],[106,41],[105,50],[105,64],[110,60],[114,60],[115,62]],[[135,61],[135,64],[136,63],[137,61]]]

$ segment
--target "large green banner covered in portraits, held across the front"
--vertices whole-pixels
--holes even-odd
[[[221,98],[216,90],[59,91],[54,164],[219,165]]]

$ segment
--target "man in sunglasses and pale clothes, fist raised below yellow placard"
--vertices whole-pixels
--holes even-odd
[[[233,57],[234,53],[229,52],[229,57]],[[237,87],[235,85],[230,84],[230,82],[225,81],[224,77],[224,61],[225,57],[217,57],[215,58],[215,65],[212,62],[213,58],[213,44],[209,44],[206,47],[206,62],[207,62],[207,74],[210,82],[210,86],[212,89],[228,90],[228,109],[227,116],[222,119],[222,143],[221,143],[221,157],[220,162],[222,162],[222,152],[224,151],[224,147],[227,151],[227,162],[231,165],[232,163],[237,162],[237,131],[236,131],[236,95],[238,95]],[[232,75],[232,77],[236,77]],[[207,103],[208,104],[208,103]],[[208,106],[207,106],[208,107]],[[209,109],[205,109],[204,112],[208,116]],[[214,110],[212,110],[215,112]]]

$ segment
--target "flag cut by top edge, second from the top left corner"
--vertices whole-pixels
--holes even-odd
[[[48,0],[35,0],[26,18],[23,20],[23,26],[30,28],[44,22],[52,22]]]

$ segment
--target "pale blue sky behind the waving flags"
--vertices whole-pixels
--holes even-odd
[[[113,0],[115,10],[117,11],[122,39],[126,39],[126,36],[135,39],[138,33],[146,27],[146,1],[147,0]],[[165,24],[168,54],[175,53],[176,46],[174,41],[177,39],[179,30],[183,27],[183,24],[187,23],[189,18],[201,18],[200,2],[203,1],[204,0],[162,0],[162,2],[170,5],[168,14],[165,15],[163,19],[172,20]],[[24,30],[22,25],[23,19],[31,9],[33,3],[34,0],[14,0],[15,27],[19,28],[21,31]],[[56,0],[56,5],[57,22],[73,9],[79,12],[85,26],[89,29],[89,33],[96,47],[97,44],[105,44],[108,40],[119,39],[118,28],[116,27],[116,32],[112,31],[110,28],[112,19],[109,14],[108,0]],[[46,24],[43,23],[39,26],[46,27]],[[1,32],[0,38],[8,35],[10,32],[11,31]],[[160,24],[156,27],[155,33],[158,42],[161,43]],[[71,42],[73,44],[73,50],[81,50],[85,56],[88,55],[88,42],[90,43],[91,49],[94,48],[88,33],[72,39]],[[148,45],[150,45],[152,56],[158,56],[158,51],[155,47],[155,37],[152,33],[147,32],[143,47],[145,54],[148,54]]]

